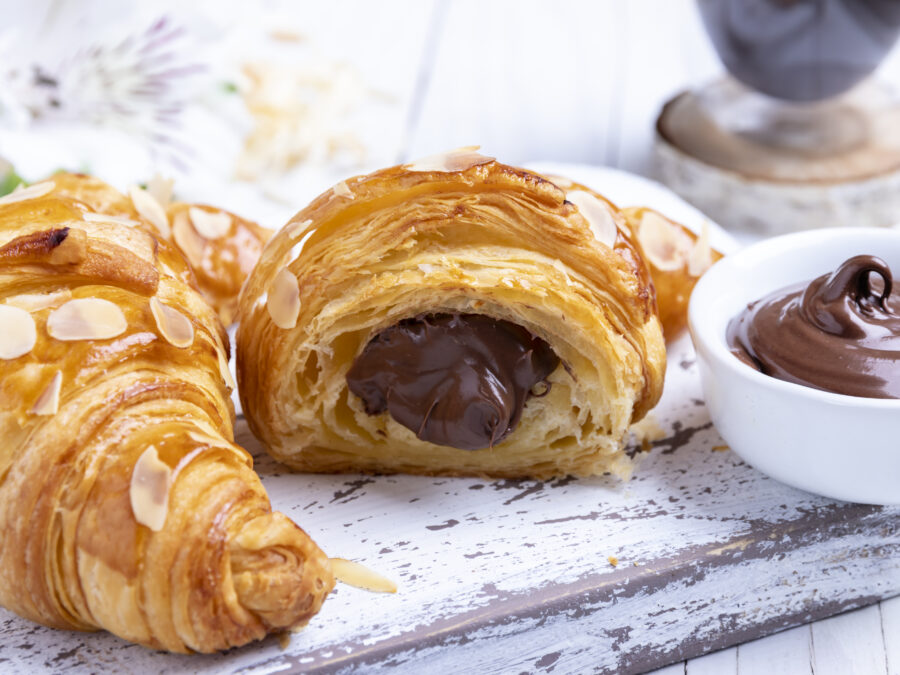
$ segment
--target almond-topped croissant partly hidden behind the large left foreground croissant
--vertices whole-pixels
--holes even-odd
[[[207,204],[171,202],[171,182],[155,190],[134,186],[123,195],[99,178],[54,174],[54,194],[78,199],[94,211],[140,222],[188,259],[207,302],[226,326],[235,321],[241,286],[272,232],[234,213]]]

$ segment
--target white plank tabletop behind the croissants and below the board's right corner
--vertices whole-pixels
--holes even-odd
[[[25,3],[2,4],[10,16]],[[365,168],[481,144],[512,164],[547,159],[646,174],[662,103],[721,71],[691,0],[210,1],[144,11],[166,9],[209,12],[224,31],[277,21],[324,58],[350,62],[389,101],[360,120]],[[898,81],[898,73],[895,53],[882,76]],[[333,179],[327,170],[310,174],[295,206]],[[240,206],[239,194],[228,199]],[[656,672],[900,675],[900,598]]]

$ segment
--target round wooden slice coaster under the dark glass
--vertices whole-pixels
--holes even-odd
[[[729,92],[716,86],[679,94],[657,120],[658,178],[687,201],[725,227],[762,235],[900,222],[900,104],[885,89],[864,86],[829,104],[827,131],[797,134],[788,148],[717,124],[708,93]],[[749,127],[766,112],[745,105],[732,118]]]

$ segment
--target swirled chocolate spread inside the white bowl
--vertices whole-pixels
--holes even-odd
[[[780,380],[900,398],[900,298],[891,295],[887,264],[858,255],[803,286],[776,291],[731,320],[735,355]]]

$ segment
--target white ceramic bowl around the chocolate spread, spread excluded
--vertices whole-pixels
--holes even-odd
[[[754,244],[712,267],[689,324],[710,416],[732,450],[763,473],[826,497],[900,504],[900,400],[844,396],[763,375],[725,339],[747,303],[810,281],[859,254],[883,258],[900,292],[900,232],[813,230]]]

